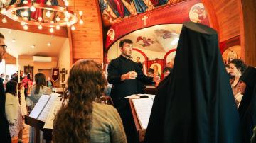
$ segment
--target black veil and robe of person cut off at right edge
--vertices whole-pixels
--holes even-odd
[[[242,141],[249,143],[253,127],[256,125],[256,69],[247,67],[240,76],[240,80],[246,84],[245,93],[238,108],[242,124]]]

